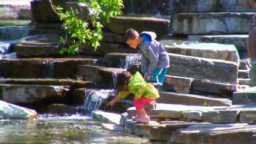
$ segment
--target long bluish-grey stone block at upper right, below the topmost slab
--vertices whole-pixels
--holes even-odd
[[[255,13],[178,13],[171,34],[248,34]]]

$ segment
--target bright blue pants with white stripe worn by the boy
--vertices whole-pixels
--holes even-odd
[[[168,68],[156,68],[153,71],[153,78],[150,80],[147,80],[147,77],[145,77],[145,82],[151,82],[155,85],[162,85],[163,80],[165,80],[165,75],[167,73]]]

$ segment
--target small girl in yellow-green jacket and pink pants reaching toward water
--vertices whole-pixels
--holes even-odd
[[[145,82],[139,72],[135,73],[133,76],[129,71],[123,71],[117,74],[117,85],[115,89],[118,95],[114,100],[110,101],[108,105],[113,106],[113,104],[121,98],[125,98],[128,94],[134,94],[133,106],[136,107],[139,115],[133,117],[133,120],[143,123],[150,121],[150,117],[145,112],[144,104],[151,106],[155,104],[156,98],[159,98],[159,93],[153,85]]]

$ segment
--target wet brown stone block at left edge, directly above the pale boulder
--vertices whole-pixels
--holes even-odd
[[[0,98],[13,104],[63,102],[69,86],[1,84]]]

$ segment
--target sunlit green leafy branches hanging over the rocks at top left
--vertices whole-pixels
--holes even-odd
[[[94,51],[97,46],[100,46],[102,40],[102,28],[100,23],[102,20],[109,22],[110,17],[121,15],[121,8],[123,8],[123,0],[79,0],[78,4],[87,6],[89,12],[89,22],[79,19],[78,10],[63,11],[62,7],[54,7],[59,15],[59,18],[64,21],[63,26],[67,30],[67,35],[73,38],[72,43],[69,43],[69,48],[62,48],[59,53],[61,55],[65,52],[78,53],[78,46],[80,43],[89,41],[91,46],[94,47]],[[60,39],[61,43],[67,43],[66,38]],[[77,40],[77,41],[75,41]]]

